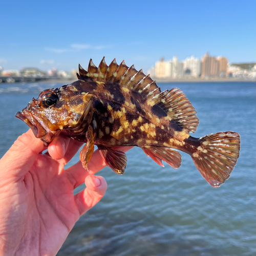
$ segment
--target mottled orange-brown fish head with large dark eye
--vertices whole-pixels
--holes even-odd
[[[69,84],[59,89],[48,89],[33,98],[25,109],[16,113],[45,146],[60,132],[77,127],[92,109],[92,95],[74,90]],[[83,118],[82,118],[83,117]]]

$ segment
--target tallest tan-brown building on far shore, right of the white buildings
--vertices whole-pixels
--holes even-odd
[[[201,69],[201,77],[214,77],[220,75],[220,63],[216,59],[216,57],[209,56],[206,53],[202,57],[202,69]]]

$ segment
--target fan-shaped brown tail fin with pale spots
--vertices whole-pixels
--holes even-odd
[[[219,187],[229,178],[239,158],[240,135],[234,132],[215,133],[199,139],[200,146],[191,157],[206,181]]]

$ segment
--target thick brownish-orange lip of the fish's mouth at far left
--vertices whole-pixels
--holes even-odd
[[[47,135],[47,131],[44,129],[44,127],[42,127],[42,125],[40,125],[40,123],[34,118],[34,116],[31,113],[27,111],[18,111],[15,114],[15,117],[24,121],[30,127],[36,138],[39,139]]]

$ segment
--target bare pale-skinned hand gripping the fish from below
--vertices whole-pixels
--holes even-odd
[[[29,130],[0,160],[0,255],[55,255],[80,216],[103,197],[106,181],[94,176],[105,167],[98,151],[88,171],[80,161],[64,168],[81,145],[59,136],[42,154],[47,147]],[[83,182],[86,188],[74,196]]]

